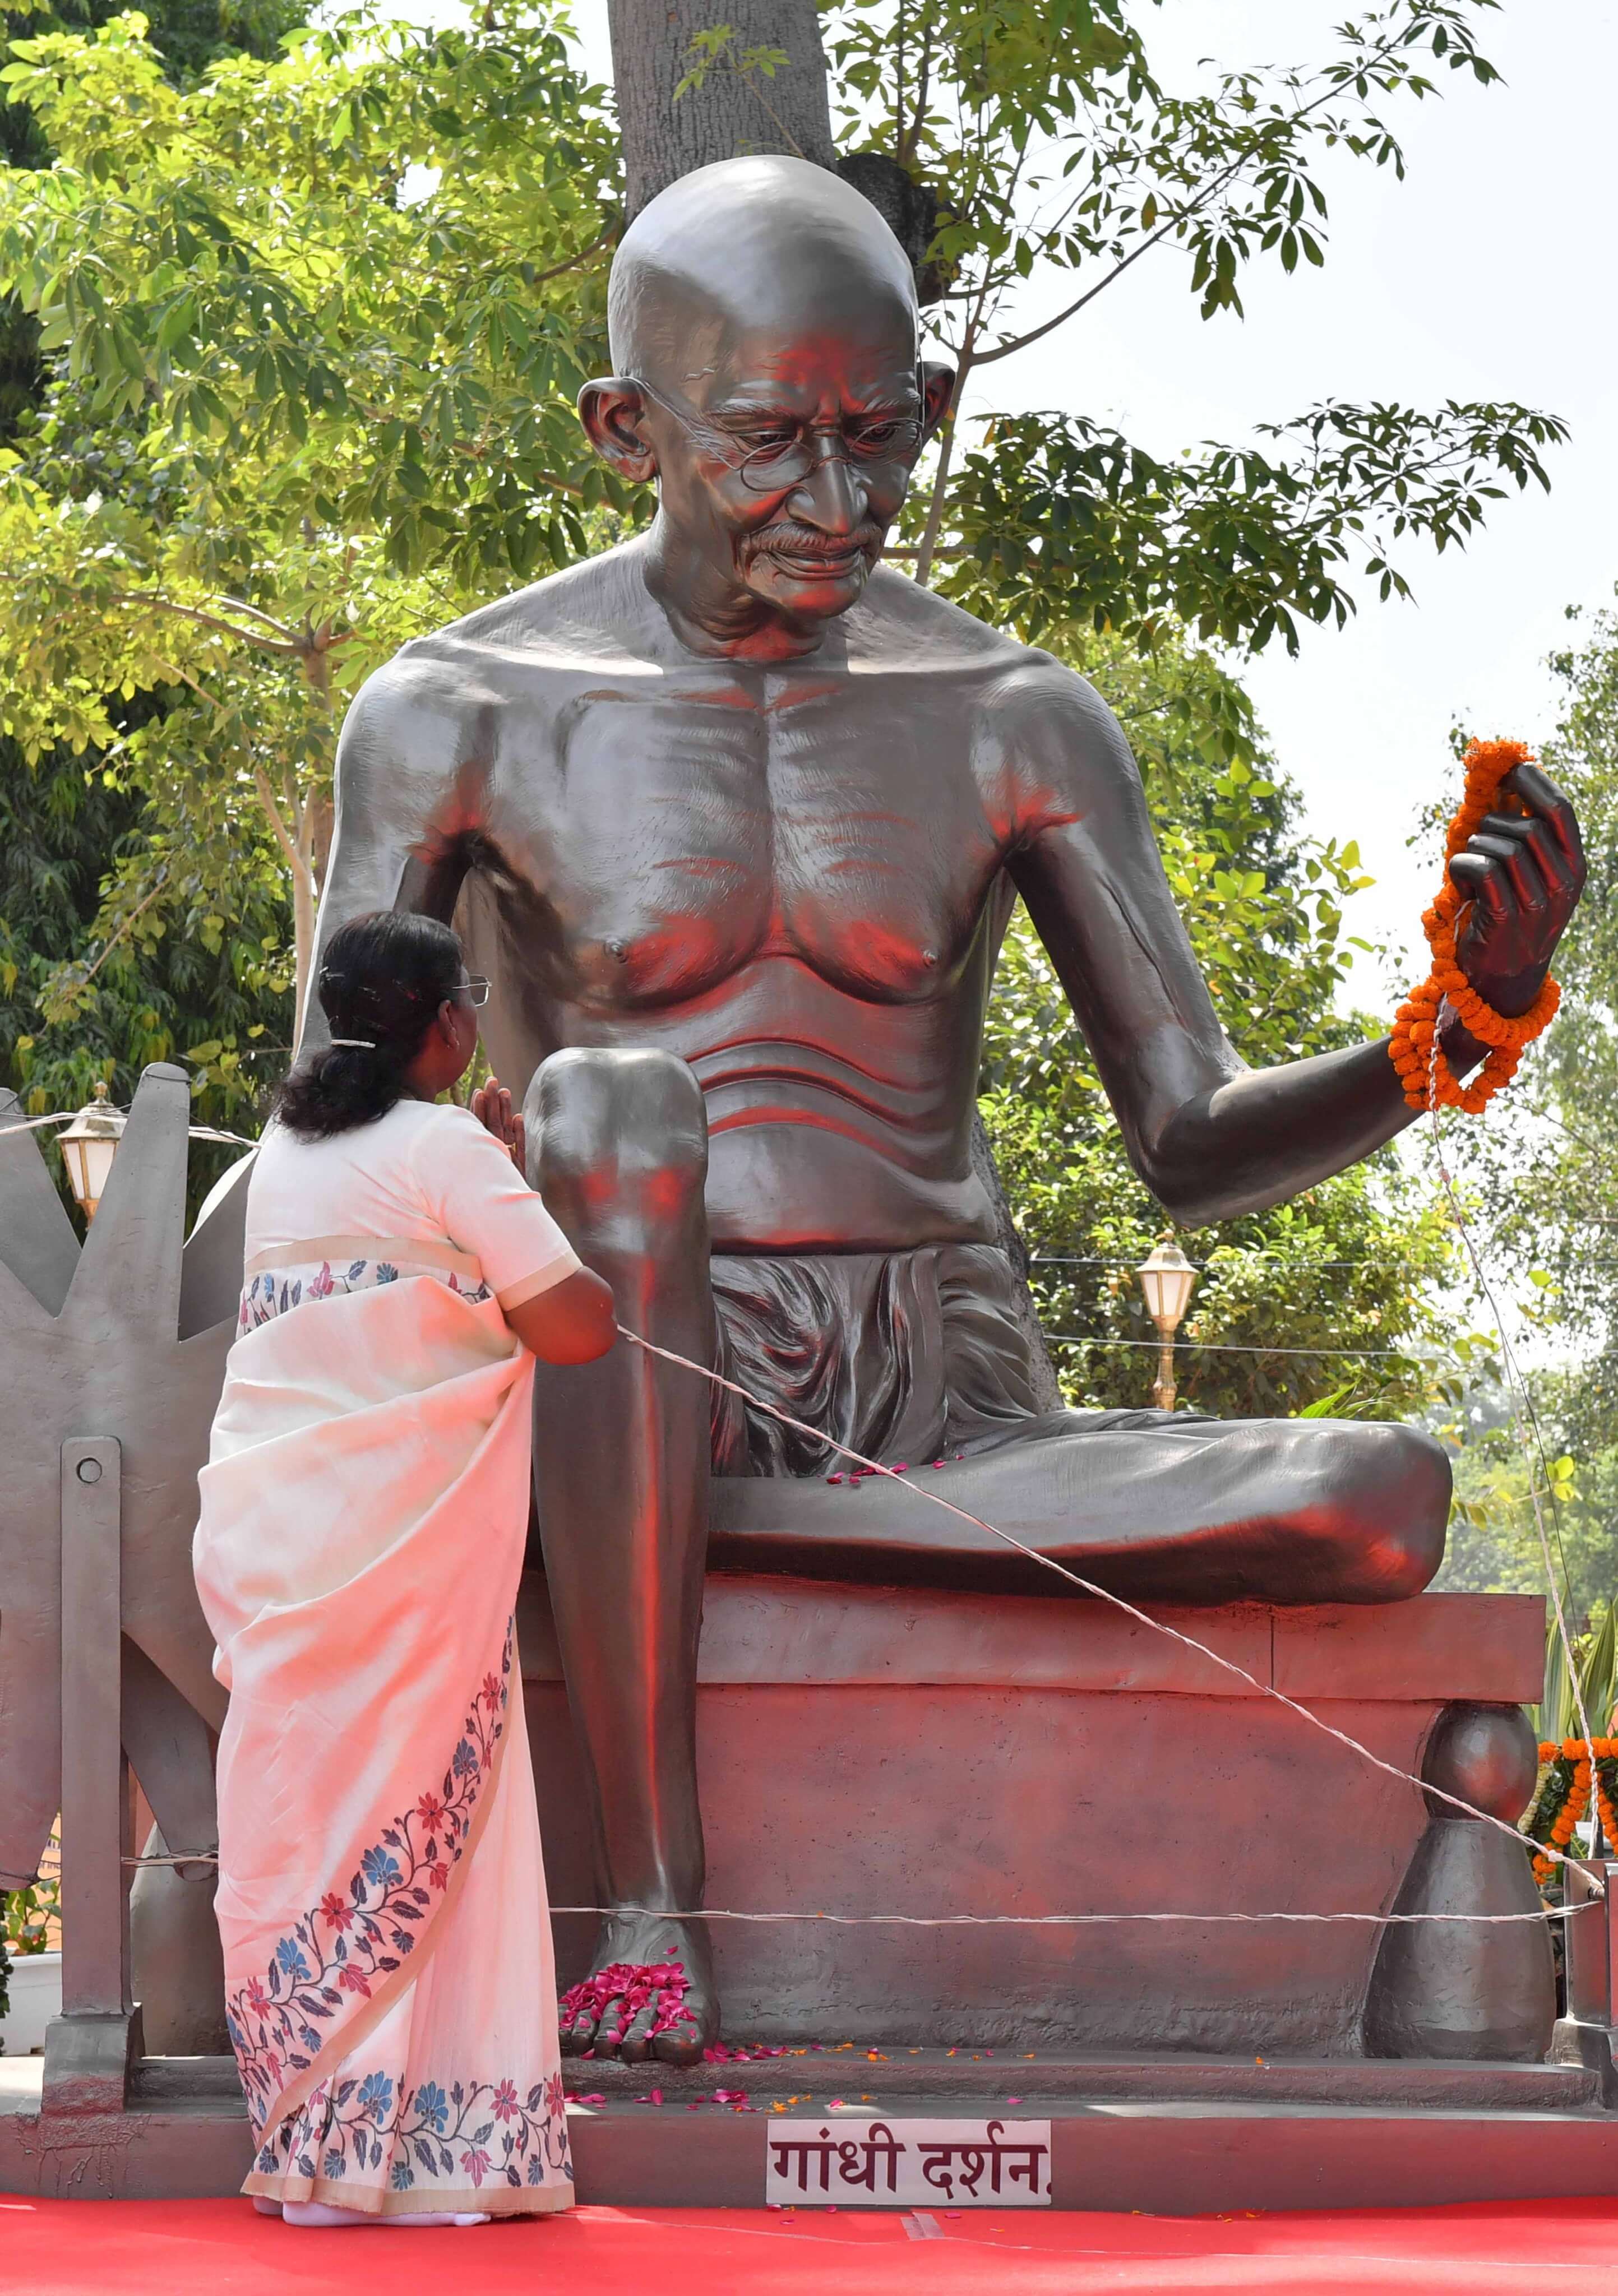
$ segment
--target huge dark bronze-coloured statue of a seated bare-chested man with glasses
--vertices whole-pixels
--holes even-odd
[[[1244,1068],[1106,703],[881,565],[950,386],[918,358],[886,223],[803,161],[689,174],[624,234],[610,344],[581,416],[615,471],[656,480],[656,519],[372,677],[324,932],[390,905],[461,918],[496,983],[491,1058],[528,1086],[530,1173],[649,1341],[886,1463],[948,1453],[927,1488],[1129,1596],[1418,1593],[1450,1479],[1414,1428],[1035,1398],[971,1157],[1019,893],[1177,1219],[1278,1203],[1411,1111],[1384,1042]],[[1568,801],[1531,767],[1515,788],[1528,815],[1455,861],[1462,962],[1503,1013],[1581,884]],[[1457,1070],[1483,1056],[1444,1026]],[[610,1903],[702,1903],[709,1561],[1058,1589],[895,1486],[826,1488],[829,1465],[638,1348],[542,1368],[544,1568]],[[709,1554],[723,1476],[815,1481]],[[604,1924],[597,1968],[670,1958],[693,2020],[652,2048],[686,2062],[718,2030],[700,1924]],[[615,2030],[585,2016],[567,2046]],[[647,2018],[617,2046],[647,2055]]]

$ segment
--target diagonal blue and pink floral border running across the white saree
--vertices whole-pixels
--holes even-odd
[[[431,1906],[425,1880],[448,1887],[450,1869],[464,1857],[473,1809],[505,1733],[512,1637],[514,1626],[507,1626],[500,1674],[487,1674],[470,1704],[441,1795],[425,1793],[413,1809],[383,1825],[381,1839],[360,1853],[347,1894],[328,1890],[275,1940],[264,1977],[227,1995],[225,2023],[255,2131],[264,2128],[287,2080],[308,2071],[337,2034],[337,2027],[321,2032],[321,2025],[330,2027],[356,1998],[370,2000],[404,1965]],[[434,1812],[431,1823],[425,1809]]]

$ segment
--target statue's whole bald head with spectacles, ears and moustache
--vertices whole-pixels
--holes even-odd
[[[826,168],[732,158],[636,216],[608,317],[617,372],[578,416],[622,478],[656,480],[647,588],[698,650],[812,650],[950,397],[950,370],[918,363],[897,239]]]

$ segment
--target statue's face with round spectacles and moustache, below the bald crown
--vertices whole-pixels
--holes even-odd
[[[757,317],[695,298],[581,411],[624,475],[656,475],[682,611],[806,631],[865,588],[950,374],[918,367],[913,312],[890,292],[771,285],[776,310]]]

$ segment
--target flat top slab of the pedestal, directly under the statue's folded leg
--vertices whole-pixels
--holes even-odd
[[[1141,1609],[1294,1699],[1526,1706],[1545,1683],[1545,1603],[1528,1593]],[[516,1642],[526,1681],[562,1678],[537,1570],[523,1573]],[[1099,1600],[728,1573],[707,1580],[700,1681],[1255,1694],[1237,1674]]]

